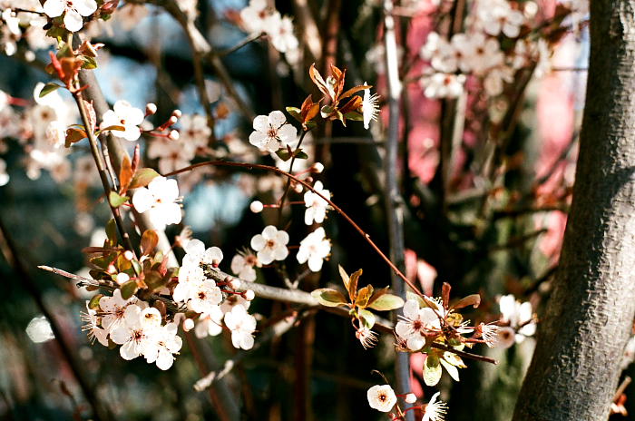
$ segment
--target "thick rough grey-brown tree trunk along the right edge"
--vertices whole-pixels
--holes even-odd
[[[591,0],[591,59],[561,267],[514,421],[605,420],[635,314],[635,0]]]

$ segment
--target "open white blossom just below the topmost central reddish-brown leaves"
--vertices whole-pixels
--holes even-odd
[[[276,152],[278,149],[296,142],[298,130],[288,124],[285,114],[272,111],[267,115],[259,115],[254,119],[255,132],[249,135],[249,143],[260,151]]]

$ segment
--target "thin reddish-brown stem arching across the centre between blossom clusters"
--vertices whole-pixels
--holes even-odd
[[[288,177],[290,179],[292,179],[293,181],[298,182],[299,184],[302,184],[304,187],[306,187],[308,190],[313,191],[314,193],[316,193],[320,198],[322,198],[324,201],[326,201],[329,205],[331,205],[331,207],[337,211],[337,213],[339,213],[345,220],[347,220],[347,222],[349,224],[351,224],[353,226],[353,228],[355,228],[355,230],[357,230],[357,232],[359,232],[359,234],[364,237],[364,239],[366,239],[366,242],[368,244],[370,244],[370,246],[373,248],[373,250],[376,251],[376,253],[381,256],[382,259],[384,259],[384,261],[386,261],[386,264],[390,267],[390,269],[395,270],[395,273],[397,274],[397,276],[401,279],[404,280],[405,284],[410,287],[411,289],[413,289],[413,291],[415,292],[415,294],[419,295],[419,296],[424,296],[424,293],[421,292],[420,289],[416,288],[415,284],[413,282],[410,281],[410,279],[407,279],[404,275],[404,273],[397,269],[397,267],[395,266],[395,264],[386,257],[386,254],[384,254],[384,252],[379,249],[379,247],[377,247],[377,245],[375,244],[375,241],[370,240],[370,235],[366,234],[366,231],[362,230],[359,225],[357,225],[357,223],[352,220],[348,215],[347,212],[345,212],[344,210],[341,210],[339,208],[339,206],[337,206],[335,203],[333,203],[333,201],[331,201],[330,199],[327,199],[327,197],[325,197],[322,193],[320,193],[319,191],[317,191],[316,189],[313,188],[313,186],[311,186],[307,181],[303,181],[298,179],[298,177],[296,177],[293,174],[289,174],[287,171],[282,171],[279,168],[276,167],[272,167],[270,165],[262,165],[259,163],[246,163],[246,162],[230,162],[230,161],[206,161],[206,162],[199,162],[199,163],[195,163],[193,165],[189,165],[187,167],[181,168],[180,170],[176,170],[176,171],[171,171],[168,172],[167,174],[163,174],[165,177],[169,177],[171,175],[176,175],[176,174],[180,174],[181,172],[187,172],[187,171],[191,171],[195,168],[198,167],[204,167],[207,165],[214,165],[214,166],[225,166],[225,167],[239,167],[239,168],[246,168],[248,170],[264,170],[264,171],[271,171],[271,172],[276,172],[280,175],[283,175],[285,177]]]

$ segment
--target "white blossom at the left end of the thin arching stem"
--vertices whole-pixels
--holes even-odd
[[[140,213],[150,212],[150,220],[157,230],[163,230],[166,225],[181,222],[181,206],[179,186],[176,180],[165,177],[155,177],[148,187],[142,187],[134,192],[132,205]]]

